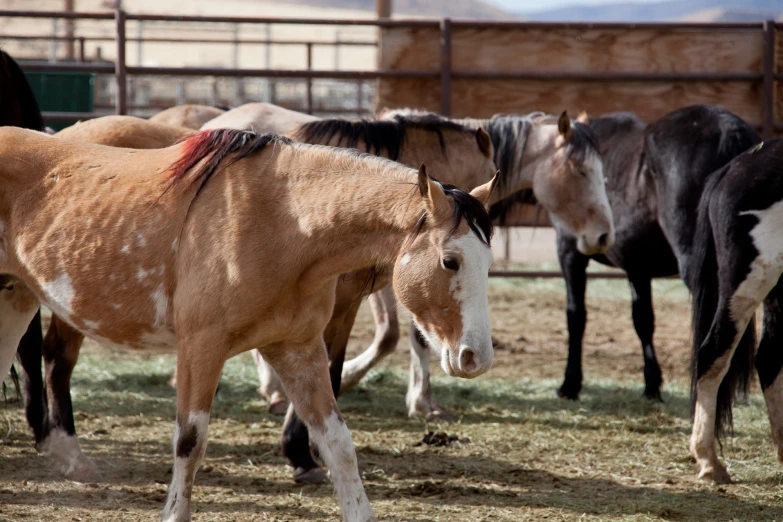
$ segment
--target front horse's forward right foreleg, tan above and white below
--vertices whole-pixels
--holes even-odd
[[[331,391],[326,349],[322,339],[306,345],[281,346],[264,355],[277,370],[297,415],[332,476],[343,519],[375,520],[359,477],[351,433]]]

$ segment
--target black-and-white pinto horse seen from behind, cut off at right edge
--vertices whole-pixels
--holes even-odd
[[[716,436],[731,424],[735,390],[747,389],[752,319],[763,303],[755,365],[772,439],[783,463],[783,141],[759,144],[716,172],[704,190],[688,260],[693,293],[690,450],[699,477],[729,482]]]

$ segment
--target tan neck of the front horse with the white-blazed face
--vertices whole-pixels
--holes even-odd
[[[294,176],[292,210],[299,229],[318,238],[318,255],[329,258],[327,272],[393,263],[424,213],[416,173],[383,159],[313,152],[294,154],[288,167],[306,173]]]

